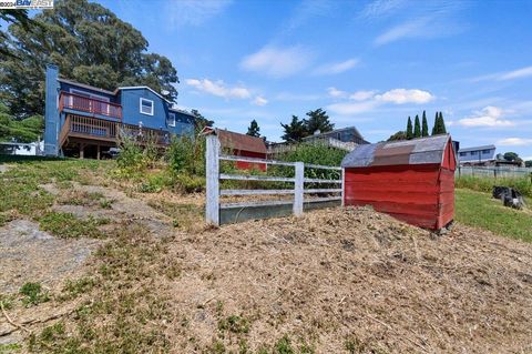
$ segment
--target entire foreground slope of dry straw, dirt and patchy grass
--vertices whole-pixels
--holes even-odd
[[[532,350],[530,243],[370,209],[206,227],[113,168],[2,168],[0,353]]]

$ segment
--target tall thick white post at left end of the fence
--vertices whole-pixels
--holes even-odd
[[[211,134],[206,136],[206,222],[219,225],[219,141],[218,136]]]

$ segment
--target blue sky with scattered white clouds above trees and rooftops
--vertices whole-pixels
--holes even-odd
[[[324,108],[377,142],[427,110],[532,160],[532,1],[99,1],[178,71],[178,105],[268,140]]]

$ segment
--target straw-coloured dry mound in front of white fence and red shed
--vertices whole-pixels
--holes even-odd
[[[316,353],[532,350],[532,245],[488,232],[438,237],[371,210],[324,210],[183,234],[172,252],[176,353],[285,335]],[[248,328],[221,326],[228,317]]]

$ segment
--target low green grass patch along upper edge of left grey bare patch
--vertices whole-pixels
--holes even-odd
[[[89,218],[81,220],[71,213],[51,212],[40,220],[40,229],[51,234],[63,237],[91,237],[101,239],[104,234],[98,226],[109,223],[105,219]]]

